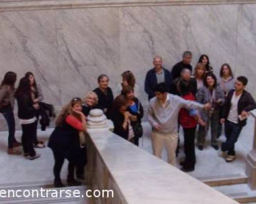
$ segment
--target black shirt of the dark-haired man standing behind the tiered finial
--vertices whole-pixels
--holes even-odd
[[[98,104],[95,108],[101,109],[106,117],[110,118],[110,109],[114,101],[113,92],[110,87],[106,89],[106,94],[103,93],[100,88],[93,90],[98,95]]]

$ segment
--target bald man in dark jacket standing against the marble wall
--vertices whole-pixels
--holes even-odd
[[[172,85],[172,77],[170,72],[162,67],[162,58],[156,56],[153,64],[154,68],[150,69],[146,74],[145,79],[145,92],[147,93],[148,100],[155,97],[155,87],[157,84],[164,82],[168,89]]]

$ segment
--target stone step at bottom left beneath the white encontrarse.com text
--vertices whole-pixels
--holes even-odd
[[[66,181],[63,181],[66,184]],[[44,182],[24,182],[24,183],[11,183],[11,184],[0,184],[1,195],[0,203],[91,203],[91,199],[86,197],[86,191],[89,189],[88,186],[72,186],[64,188],[54,188],[52,181]],[[41,191],[43,189],[43,191]],[[3,191],[7,193],[3,197]],[[11,190],[11,191],[10,191]],[[17,196],[13,195],[13,190],[18,192]],[[19,190],[19,191],[17,191]],[[79,191],[81,196],[73,195],[73,192]],[[8,197],[8,191],[10,196]],[[20,193],[20,191],[24,192]],[[38,196],[37,192],[38,191]],[[76,194],[77,195],[77,194]]]

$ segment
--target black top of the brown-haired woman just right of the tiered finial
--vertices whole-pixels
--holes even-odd
[[[111,120],[114,123],[113,133],[127,140],[129,136],[129,128],[127,126],[126,130],[123,129],[124,115],[119,111],[112,112]]]

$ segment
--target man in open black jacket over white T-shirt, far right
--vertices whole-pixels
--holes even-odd
[[[221,145],[221,156],[226,162],[232,162],[236,158],[234,144],[246,125],[248,112],[256,108],[253,97],[245,90],[247,83],[246,77],[237,78],[235,89],[229,91],[222,112],[221,123],[225,122],[226,141]]]

